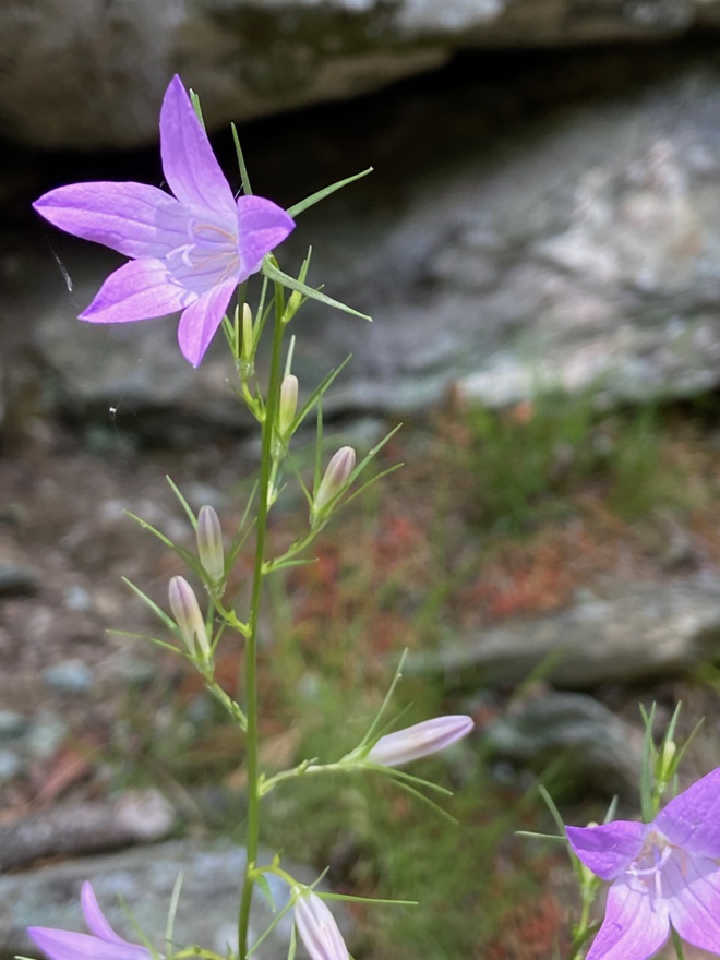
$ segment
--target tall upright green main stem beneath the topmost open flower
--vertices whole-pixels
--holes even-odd
[[[277,407],[280,395],[280,349],[283,345],[283,313],[285,310],[283,288],[275,285],[275,326],[273,331],[273,348],[271,352],[269,383],[267,404],[263,420],[263,448],[260,465],[260,483],[257,488],[257,524],[255,527],[255,564],[250,602],[250,619],[245,640],[245,716],[247,716],[247,771],[248,771],[248,827],[245,836],[245,877],[240,900],[238,916],[238,956],[248,956],[248,931],[250,927],[250,907],[254,887],[254,867],[257,860],[260,843],[260,771],[257,763],[257,624],[263,587],[263,564],[265,560],[265,539],[267,533],[267,514],[269,511],[269,490],[272,479],[272,442],[273,429],[277,422]]]

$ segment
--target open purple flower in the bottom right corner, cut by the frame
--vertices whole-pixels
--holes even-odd
[[[611,880],[587,960],[647,960],[670,936],[720,955],[720,768],[651,824],[567,827],[579,860]]]

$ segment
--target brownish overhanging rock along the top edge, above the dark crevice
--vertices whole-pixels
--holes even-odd
[[[0,121],[28,144],[130,147],[155,140],[175,72],[216,128],[375,89],[461,48],[718,25],[718,0],[7,0]]]

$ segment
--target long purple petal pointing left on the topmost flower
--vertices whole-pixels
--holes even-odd
[[[167,256],[187,242],[182,204],[146,183],[71,183],[33,206],[61,230],[125,256]]]

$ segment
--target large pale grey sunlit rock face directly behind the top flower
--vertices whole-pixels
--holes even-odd
[[[310,281],[375,317],[369,326],[311,304],[298,320],[305,387],[353,355],[331,395],[335,410],[403,416],[436,405],[451,385],[503,405],[543,386],[632,401],[720,381],[720,65],[691,58],[670,77],[531,122],[505,119],[493,134],[503,110],[571,84],[579,64],[554,69],[375,110],[348,167],[380,156],[377,172],[303,214],[279,250],[292,269],[312,243]],[[332,131],[327,142],[311,137],[303,154],[299,140],[297,167],[332,141]],[[256,156],[259,169],[276,153],[277,141]],[[38,317],[39,355],[63,403],[107,416],[124,397],[145,417],[237,423],[221,350],[194,374],[172,321],[76,322],[107,271],[89,244],[83,251],[67,261],[72,296],[48,256],[52,305],[14,308]]]

